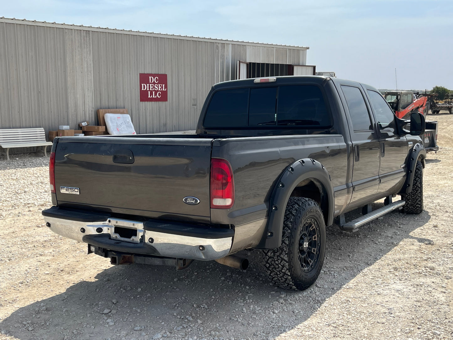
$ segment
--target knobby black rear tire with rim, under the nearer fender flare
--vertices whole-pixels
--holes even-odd
[[[304,250],[304,241],[308,241],[307,250]],[[290,197],[284,214],[282,244],[279,248],[264,251],[270,280],[286,289],[307,289],[321,272],[325,250],[326,224],[319,205],[313,199]],[[309,263],[312,255],[312,263]],[[306,267],[307,264],[310,266]]]

